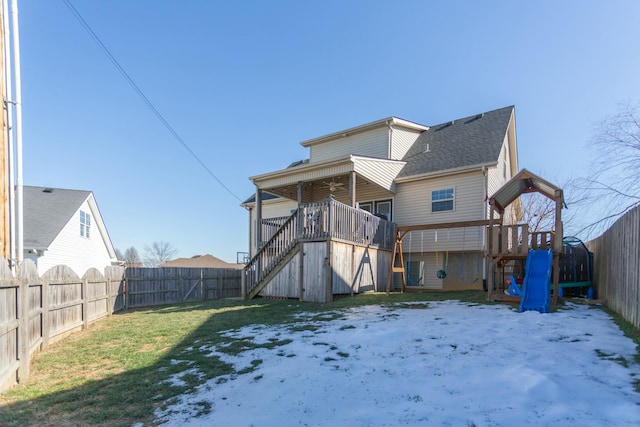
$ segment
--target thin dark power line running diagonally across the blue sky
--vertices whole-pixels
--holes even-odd
[[[158,109],[153,105],[153,103],[149,100],[149,98],[147,98],[147,96],[144,94],[144,92],[142,92],[142,89],[140,89],[140,87],[138,87],[136,82],[133,81],[131,76],[129,76],[129,74],[125,71],[125,69],[122,67],[122,65],[120,65],[118,60],[111,54],[109,49],[104,45],[104,43],[102,43],[102,41],[100,40],[98,35],[91,29],[91,27],[89,26],[87,21],[84,20],[82,15],[80,15],[80,12],[78,12],[78,10],[73,6],[73,4],[71,4],[71,1],[70,0],[62,0],[62,1],[67,6],[67,8],[71,11],[73,16],[80,23],[80,25],[82,25],[82,27],[87,31],[87,33],[89,33],[91,38],[98,44],[98,46],[100,46],[100,49],[102,49],[104,54],[107,55],[107,57],[109,58],[111,63],[114,65],[114,67],[116,67],[116,69],[120,72],[122,77],[124,77],[124,79],[127,81],[127,83],[129,83],[129,86],[131,86],[133,88],[133,90],[138,94],[138,97],[142,100],[142,102],[145,103],[145,105],[158,118],[158,120],[160,120],[160,122],[169,131],[169,133],[173,136],[173,138],[176,141],[178,141],[180,143],[180,145],[182,145],[182,147],[185,150],[187,150],[187,152],[189,152],[189,154],[191,154],[191,156],[194,159],[196,159],[196,161],[198,163],[200,163],[200,166],[202,166],[207,171],[207,173],[209,175],[211,175],[211,177],[213,179],[215,179],[218,182],[218,184],[220,184],[222,186],[222,188],[227,190],[227,192],[229,192],[229,194],[231,194],[233,197],[238,199],[238,201],[242,202],[243,200],[240,197],[238,197],[233,191],[231,191],[229,189],[229,187],[227,187],[216,176],[216,174],[214,174],[213,171],[211,169],[209,169],[209,167],[200,159],[200,157],[198,157],[198,155],[191,149],[191,147],[189,147],[189,145],[187,145],[187,143],[182,139],[182,137],[180,137],[178,132],[176,132],[175,129],[173,128],[173,126],[171,126],[171,124],[169,124],[169,122],[164,118],[164,116],[160,113],[160,111],[158,111]]]

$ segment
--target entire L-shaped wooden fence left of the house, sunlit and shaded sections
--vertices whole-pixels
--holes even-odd
[[[125,308],[239,297],[241,270],[107,267],[78,277],[59,265],[42,277],[25,260],[0,262],[0,393],[29,378],[29,362],[74,331]]]

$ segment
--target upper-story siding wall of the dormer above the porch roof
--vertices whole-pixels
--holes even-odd
[[[389,156],[389,129],[382,128],[347,136],[310,147],[310,163],[323,162],[349,154],[378,157]]]

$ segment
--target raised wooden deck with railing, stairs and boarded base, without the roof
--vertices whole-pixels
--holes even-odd
[[[243,269],[246,298],[327,302],[334,294],[380,290],[387,281],[388,269],[378,265],[391,262],[396,226],[367,211],[329,199],[258,225],[273,234]]]

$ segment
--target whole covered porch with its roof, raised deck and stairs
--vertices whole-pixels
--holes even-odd
[[[394,178],[404,164],[347,155],[252,177],[245,297],[326,302],[384,289],[395,236]]]

